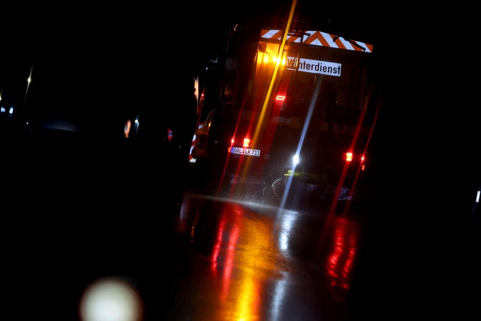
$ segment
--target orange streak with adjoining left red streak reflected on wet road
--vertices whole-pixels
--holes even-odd
[[[213,311],[215,319],[259,319],[259,292],[263,288],[260,282],[267,279],[266,273],[275,270],[274,260],[265,258],[267,250],[264,249],[272,252],[272,226],[245,220],[244,210],[239,205],[231,204],[223,211],[211,257],[211,270],[214,275],[222,273],[219,295],[225,305],[223,309]]]

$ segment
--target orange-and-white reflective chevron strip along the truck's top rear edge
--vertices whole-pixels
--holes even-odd
[[[271,39],[271,40],[281,40],[283,36],[283,31],[278,29],[263,29],[261,30],[260,37],[264,39]],[[287,35],[286,41],[292,43],[300,43],[300,36],[296,35]],[[308,44],[311,46],[320,46],[320,47],[331,47],[331,48],[339,48],[345,50],[353,50],[353,51],[364,51],[368,53],[372,53],[373,45],[366,44],[360,41],[355,41],[349,39],[352,43],[358,45],[353,45],[351,42],[346,41],[345,38],[337,36],[335,34],[330,34],[327,32],[322,31],[315,31],[315,30],[307,30],[302,38],[302,43]],[[363,50],[364,48],[364,50]]]

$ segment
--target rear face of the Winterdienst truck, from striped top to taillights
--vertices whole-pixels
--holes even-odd
[[[372,49],[322,31],[261,30],[235,116],[226,122],[224,195],[272,203],[364,195]]]

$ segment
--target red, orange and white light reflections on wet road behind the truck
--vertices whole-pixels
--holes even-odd
[[[361,233],[352,218],[185,194],[176,224],[195,268],[174,319],[349,319]]]

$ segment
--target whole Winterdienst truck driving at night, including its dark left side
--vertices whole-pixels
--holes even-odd
[[[191,157],[212,192],[276,206],[367,199],[374,46],[304,21],[253,25],[226,30],[201,86]]]

